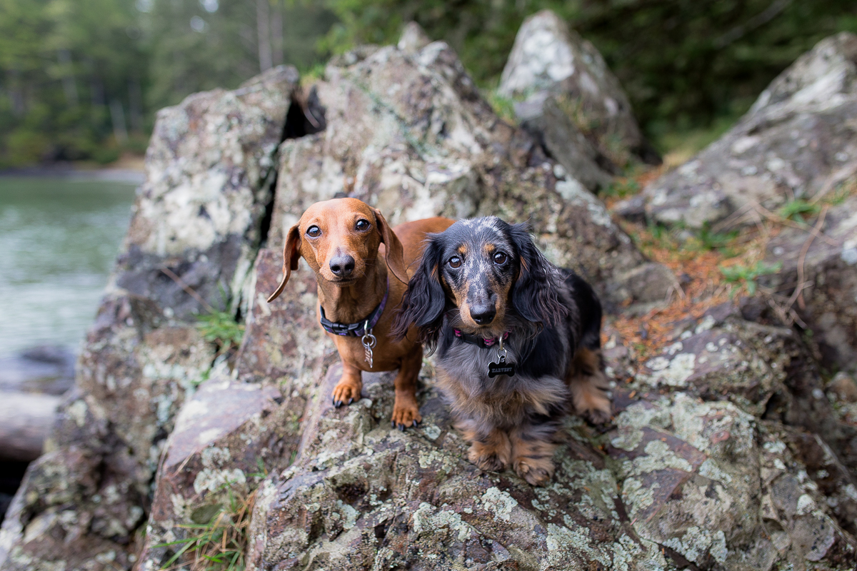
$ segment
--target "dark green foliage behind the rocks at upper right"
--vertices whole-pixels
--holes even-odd
[[[553,9],[601,51],[649,134],[707,127],[746,110],[818,40],[857,31],[849,0],[327,0],[339,17],[326,45],[397,39],[415,20],[458,51],[476,82],[496,82],[524,18]],[[656,133],[657,132],[657,133]]]

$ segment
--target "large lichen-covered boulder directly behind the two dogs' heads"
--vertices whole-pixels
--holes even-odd
[[[582,272],[611,307],[671,291],[672,274],[644,259],[574,173],[500,120],[443,42],[345,54],[315,89],[328,128],[280,146],[270,244],[345,188],[392,224],[529,220],[548,257]]]

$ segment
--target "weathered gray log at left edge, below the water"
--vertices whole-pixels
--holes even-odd
[[[61,400],[59,396],[0,391],[0,458],[38,458]]]

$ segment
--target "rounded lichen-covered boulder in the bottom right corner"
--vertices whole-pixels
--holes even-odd
[[[607,449],[627,516],[674,564],[768,571],[857,561],[857,542],[788,451],[782,425],[683,392],[644,396],[616,425]]]

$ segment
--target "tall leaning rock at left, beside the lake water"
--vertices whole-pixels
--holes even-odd
[[[3,521],[0,568],[135,562],[166,437],[214,359],[194,316],[238,305],[297,80],[274,68],[159,112],[75,391]]]

